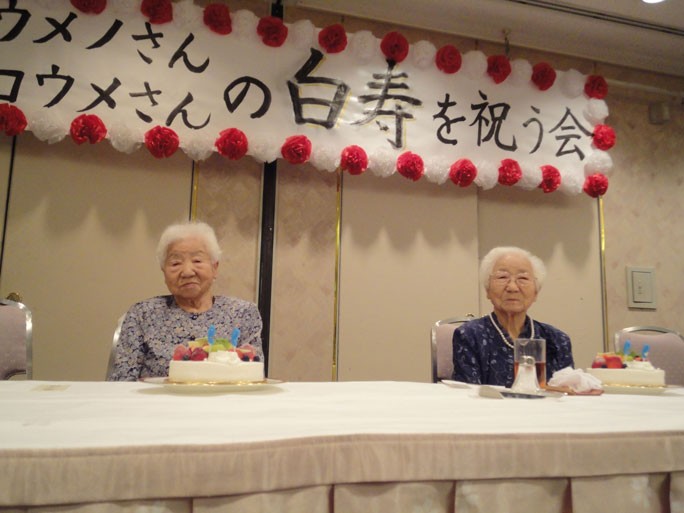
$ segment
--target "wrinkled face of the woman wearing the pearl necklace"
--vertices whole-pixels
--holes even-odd
[[[499,258],[489,277],[487,299],[497,312],[527,312],[537,299],[537,284],[530,261],[519,255],[504,255]]]

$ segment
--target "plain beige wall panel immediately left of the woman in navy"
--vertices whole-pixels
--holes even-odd
[[[339,379],[429,381],[430,328],[477,313],[475,189],[345,176]]]

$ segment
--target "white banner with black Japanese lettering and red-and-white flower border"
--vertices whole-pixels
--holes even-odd
[[[10,0],[0,55],[0,128],[20,133],[24,115],[50,143],[591,196],[612,168],[602,77],[399,32],[189,0]]]

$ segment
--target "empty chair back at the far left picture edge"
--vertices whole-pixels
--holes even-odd
[[[33,318],[26,305],[0,299],[0,380],[33,378]]]

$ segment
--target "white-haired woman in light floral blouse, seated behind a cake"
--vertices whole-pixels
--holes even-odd
[[[166,228],[157,260],[170,294],[140,301],[128,310],[109,380],[168,375],[174,347],[206,337],[210,326],[217,338],[230,338],[238,328],[238,345],[251,344],[263,360],[256,305],[212,292],[220,256],[216,234],[208,224],[188,222]]]

